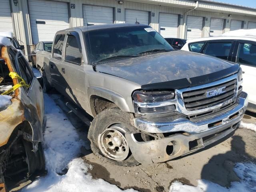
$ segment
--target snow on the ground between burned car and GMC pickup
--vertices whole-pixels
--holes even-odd
[[[121,192],[117,186],[102,179],[92,179],[87,173],[93,167],[76,158],[84,142],[64,112],[54,100],[44,94],[45,115],[44,155],[47,175],[40,177],[24,188],[23,192]],[[79,133],[82,134],[82,133]],[[68,172],[60,175],[64,168]],[[134,192],[133,189],[126,190]]]

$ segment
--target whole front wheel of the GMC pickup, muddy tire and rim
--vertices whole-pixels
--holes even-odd
[[[133,132],[134,129],[129,114],[119,108],[100,112],[92,121],[88,132],[92,152],[120,166],[139,165],[125,138],[126,132]]]

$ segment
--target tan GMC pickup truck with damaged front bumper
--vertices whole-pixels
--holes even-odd
[[[59,31],[42,71],[44,91],[94,117],[94,154],[122,166],[202,149],[236,130],[248,103],[238,64],[174,50],[142,24]]]

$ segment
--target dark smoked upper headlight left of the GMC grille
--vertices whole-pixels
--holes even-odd
[[[170,100],[174,98],[174,92],[164,91],[164,92],[142,92],[135,91],[132,94],[134,100],[143,103],[154,103]]]

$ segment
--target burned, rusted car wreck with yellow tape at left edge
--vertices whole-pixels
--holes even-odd
[[[24,55],[0,36],[0,192],[44,171],[42,88]]]

